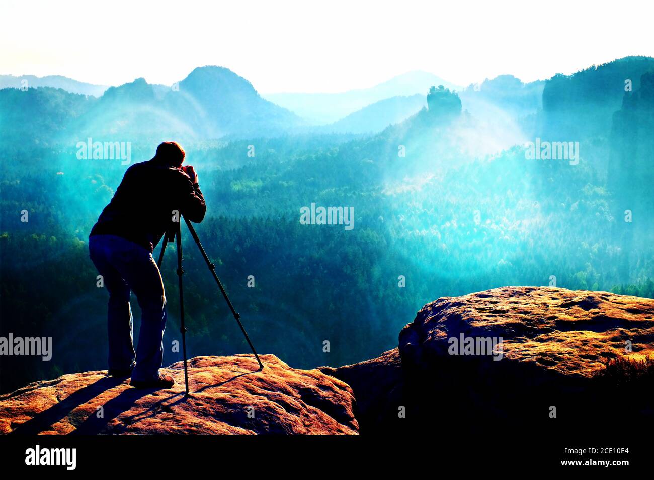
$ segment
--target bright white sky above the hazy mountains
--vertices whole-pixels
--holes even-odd
[[[638,2],[0,0],[0,73],[173,84],[221,65],[258,91],[367,88],[408,71],[467,85],[654,56]]]

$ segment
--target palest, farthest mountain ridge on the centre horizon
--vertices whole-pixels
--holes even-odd
[[[396,76],[388,82],[367,89],[343,93],[269,93],[264,95],[264,98],[287,108],[307,121],[324,124],[341,120],[381,100],[415,94],[424,96],[434,85],[442,85],[449,89],[459,88],[434,74],[415,71]]]

